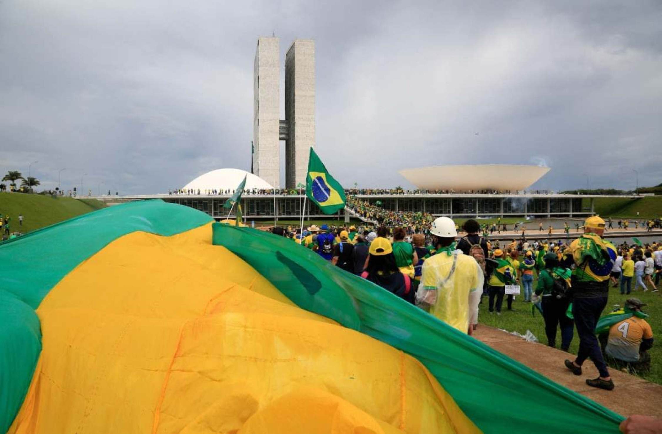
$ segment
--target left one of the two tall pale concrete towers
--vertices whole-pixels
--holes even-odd
[[[279,39],[259,38],[255,54],[253,136],[255,174],[280,188]]]

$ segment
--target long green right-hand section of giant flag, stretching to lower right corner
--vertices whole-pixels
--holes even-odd
[[[486,433],[618,432],[620,415],[299,244],[220,224],[213,243],[246,260],[300,307],[418,358]]]

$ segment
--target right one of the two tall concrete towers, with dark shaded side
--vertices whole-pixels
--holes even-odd
[[[315,146],[315,41],[295,39],[285,56],[285,187],[306,184],[308,154]]]

